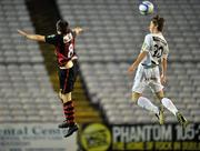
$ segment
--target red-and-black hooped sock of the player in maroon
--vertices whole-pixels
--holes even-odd
[[[74,124],[74,108],[73,108],[72,101],[68,101],[63,103],[63,112],[64,112],[66,120],[69,123],[69,125],[73,125]]]

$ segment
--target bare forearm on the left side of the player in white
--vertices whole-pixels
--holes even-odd
[[[128,69],[128,73],[131,74],[132,72],[134,72],[134,70],[138,68],[139,63],[144,59],[144,57],[147,56],[147,51],[142,51],[137,60],[129,67]]]

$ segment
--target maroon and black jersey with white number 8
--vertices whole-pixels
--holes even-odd
[[[56,56],[59,67],[64,66],[72,57],[77,56],[74,52],[76,32],[52,34],[46,37],[46,42],[56,47]]]

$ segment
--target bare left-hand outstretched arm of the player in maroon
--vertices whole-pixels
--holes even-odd
[[[44,36],[40,36],[40,34],[29,34],[22,30],[18,30],[18,33],[20,33],[21,36],[26,37],[27,39],[30,39],[30,40],[34,40],[34,41],[41,41],[41,42],[44,42],[46,41],[46,38]]]

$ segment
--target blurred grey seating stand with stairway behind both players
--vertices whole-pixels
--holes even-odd
[[[130,99],[133,76],[129,77],[127,70],[140,51],[152,18],[139,13],[140,2],[0,0],[0,137],[7,125],[13,129],[18,124],[39,123],[41,127],[57,127],[62,122],[54,48],[26,40],[17,33],[17,29],[44,36],[56,33],[54,24],[60,18],[69,21],[71,28],[80,26],[86,29],[77,38],[80,74],[72,93],[76,121],[80,127],[94,122],[123,125],[157,123],[153,114],[132,104]],[[189,121],[198,123],[200,1],[151,2],[156,7],[153,14],[159,13],[166,19],[163,34],[170,49],[166,95]],[[158,103],[150,90],[144,95]],[[177,123],[176,117],[167,110],[166,117],[166,123]],[[10,151],[11,145],[2,142],[0,151]],[[80,142],[74,135],[73,142],[76,150],[81,150],[77,149]],[[24,147],[18,148],[23,151]],[[70,150],[69,145],[62,148]]]

